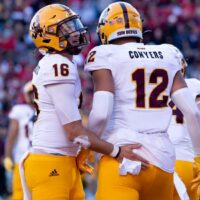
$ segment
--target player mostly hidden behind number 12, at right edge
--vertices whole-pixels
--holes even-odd
[[[182,74],[184,75],[187,67],[187,62],[185,61],[182,54],[180,54],[180,59],[182,60]],[[186,78],[185,81],[194,100],[200,108],[200,81],[194,78]],[[172,143],[174,144],[176,152],[175,171],[185,184],[190,199],[196,200],[197,187],[193,186],[193,188],[191,188],[191,181],[195,176],[193,171],[194,151],[192,148],[192,141],[189,136],[186,121],[182,112],[175,106],[175,104],[172,101],[170,101],[169,105],[172,108],[173,117],[171,119],[168,133]],[[178,187],[177,183],[175,185],[177,185]],[[179,200],[182,195],[181,192],[178,195],[179,191],[177,191],[175,189],[174,200]],[[198,196],[200,197],[199,192]]]

